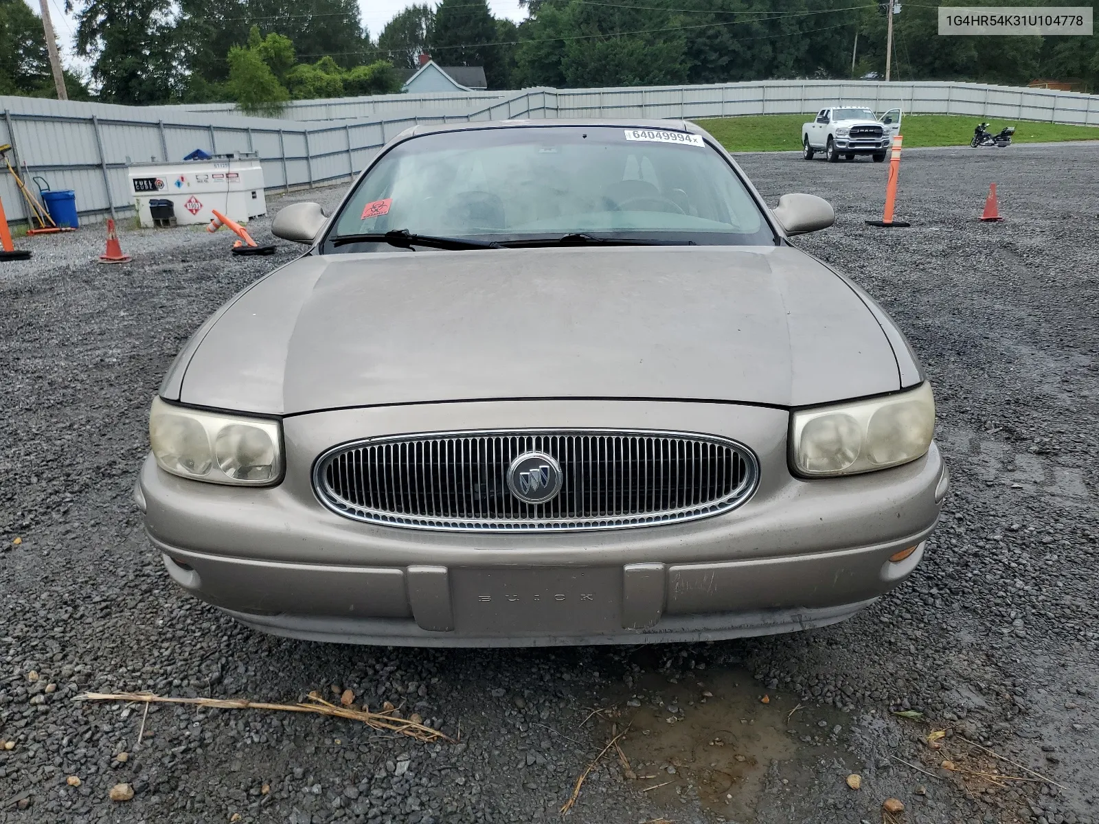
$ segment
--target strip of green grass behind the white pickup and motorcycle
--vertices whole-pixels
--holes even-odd
[[[801,124],[812,114],[753,114],[696,121],[730,152],[781,152],[801,148]],[[901,121],[904,146],[967,146],[979,118],[956,114],[906,114]],[[1099,140],[1099,127],[1066,126],[1032,121],[989,121],[992,134],[1014,126],[1015,143]]]

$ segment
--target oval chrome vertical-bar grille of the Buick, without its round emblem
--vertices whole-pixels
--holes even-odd
[[[511,463],[541,452],[560,466],[560,491],[524,503]],[[568,531],[644,526],[726,512],[755,489],[752,452],[677,432],[542,430],[379,437],[325,453],[318,498],[346,517],[422,530]]]

